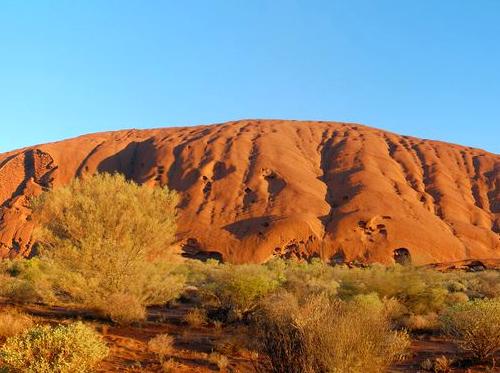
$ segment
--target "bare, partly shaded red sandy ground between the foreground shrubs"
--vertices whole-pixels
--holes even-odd
[[[0,309],[7,304],[2,303]],[[11,305],[8,305],[11,306]],[[183,317],[189,305],[180,304],[173,308],[155,307],[149,311],[149,319],[137,326],[114,326],[97,321],[91,314],[63,308],[48,308],[40,305],[17,306],[20,310],[33,315],[37,322],[59,323],[84,319],[104,335],[110,347],[110,355],[99,366],[97,372],[161,372],[157,358],[148,352],[148,341],[158,334],[168,333],[175,338],[175,351],[172,356],[177,363],[175,372],[217,372],[218,367],[211,363],[208,355],[217,346],[226,345],[225,356],[230,365],[229,372],[256,372],[250,353],[238,342],[246,338],[248,331],[242,326],[193,328],[184,323]],[[409,358],[389,369],[391,373],[424,372],[420,364],[425,359],[434,360],[442,355],[456,358],[457,350],[451,341],[440,336],[420,335],[412,340]],[[488,366],[454,368],[457,373],[499,372]]]

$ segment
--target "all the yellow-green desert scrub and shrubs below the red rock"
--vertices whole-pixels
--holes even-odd
[[[43,194],[33,201],[37,256],[0,263],[0,296],[138,326],[148,322],[149,306],[184,303],[185,327],[241,327],[238,348],[249,351],[257,371],[381,372],[407,358],[412,337],[426,333],[452,340],[459,352],[453,361],[423,362],[422,369],[494,364],[498,356],[498,271],[180,261],[168,250],[176,204],[175,193],[116,175]],[[0,315],[1,369],[86,372],[108,354],[88,325],[38,321],[13,307]],[[179,369],[173,336],[158,333],[147,349],[164,371]],[[227,371],[231,351],[214,347],[207,360]]]

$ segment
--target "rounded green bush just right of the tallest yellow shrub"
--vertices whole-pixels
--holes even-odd
[[[205,303],[227,310],[230,320],[238,320],[254,311],[259,301],[278,288],[276,273],[257,264],[208,264],[198,267],[203,276],[196,285]]]

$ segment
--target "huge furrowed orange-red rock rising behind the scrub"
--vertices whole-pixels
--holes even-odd
[[[0,155],[0,256],[30,254],[28,197],[98,171],[177,190],[179,239],[193,255],[500,258],[500,156],[361,125],[258,120],[107,132]]]

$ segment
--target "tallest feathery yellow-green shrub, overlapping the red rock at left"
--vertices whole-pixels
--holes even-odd
[[[109,314],[108,298],[120,294],[137,316],[137,304],[177,297],[184,280],[168,260],[176,204],[168,189],[109,174],[75,179],[33,200],[34,238],[57,301]]]

